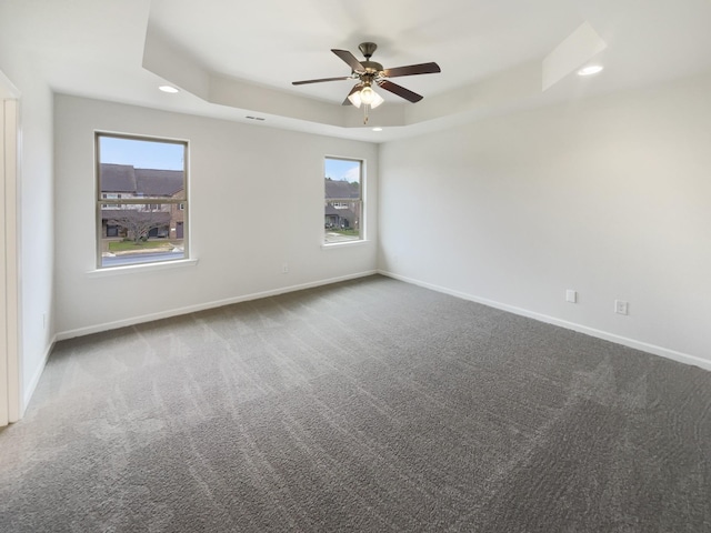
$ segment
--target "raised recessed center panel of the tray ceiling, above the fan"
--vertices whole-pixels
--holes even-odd
[[[330,49],[362,59],[358,44],[373,41],[373,59],[385,68],[437,61],[445,76],[407,80],[428,95],[542,58],[584,21],[569,0],[263,0],[242,10],[234,4],[206,2],[196,19],[191,0],[154,0],[150,20],[210,70],[283,90],[293,90],[294,80],[348,76]],[[341,103],[348,89],[349,82],[334,82],[294,92]]]

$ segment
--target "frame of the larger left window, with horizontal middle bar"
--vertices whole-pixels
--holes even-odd
[[[101,139],[102,138],[113,138],[113,139],[124,139],[124,140],[133,140],[133,141],[147,141],[147,142],[159,142],[159,143],[164,143],[164,144],[179,144],[183,147],[183,165],[182,165],[182,190],[183,190],[183,194],[182,198],[169,198],[169,197],[147,197],[144,194],[139,194],[137,193],[136,197],[133,198],[122,198],[124,197],[124,194],[122,193],[117,193],[117,198],[116,199],[110,199],[110,198],[103,198],[103,197],[108,197],[110,193],[107,193],[104,191],[102,191],[102,187],[101,187]],[[139,269],[141,266],[156,266],[157,264],[166,264],[166,263],[176,263],[176,262],[186,262],[188,260],[191,260],[190,258],[190,239],[189,239],[189,231],[188,229],[190,228],[190,222],[189,222],[189,189],[188,189],[188,184],[189,184],[189,157],[190,157],[190,143],[188,140],[186,139],[173,139],[173,138],[163,138],[163,137],[152,137],[152,135],[141,135],[141,134],[133,134],[133,133],[117,133],[117,132],[111,132],[111,131],[100,131],[100,130],[96,130],[94,131],[94,187],[96,187],[96,194],[94,194],[94,205],[96,205],[96,214],[94,214],[94,219],[96,219],[96,223],[94,223],[94,230],[96,230],[96,240],[94,240],[94,248],[96,248],[96,269],[97,271],[112,271],[112,270],[127,270],[127,268],[130,268],[131,270],[133,269]],[[109,163],[111,164],[111,163]],[[157,170],[161,170],[161,169],[157,169]],[[124,263],[124,264],[118,264],[118,265],[104,265],[103,264],[103,254],[102,254],[102,241],[103,241],[103,232],[102,232],[102,209],[112,209],[111,207],[114,207],[117,210],[122,209],[122,207],[124,205],[137,205],[137,207],[141,207],[141,205],[147,205],[147,202],[150,204],[154,204],[154,205],[159,205],[159,207],[163,207],[163,205],[168,205],[168,211],[172,212],[172,210],[174,209],[176,211],[179,211],[182,215],[182,222],[183,222],[183,237],[182,237],[182,241],[183,241],[183,252],[181,255],[176,257],[176,258],[171,258],[171,259],[159,259],[159,260],[154,260],[154,261],[136,261],[136,262],[129,262],[129,263]],[[172,205],[174,205],[174,208],[172,208]],[[182,207],[182,209],[179,209],[179,207]],[[169,234],[170,234],[170,222],[169,222]]]

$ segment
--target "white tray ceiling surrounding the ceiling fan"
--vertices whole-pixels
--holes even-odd
[[[711,70],[710,22],[710,0],[1,0],[0,44],[58,92],[377,142]],[[580,64],[543,91],[544,59],[583,23],[605,70],[577,77],[588,57],[568,50]],[[291,84],[348,76],[330,49],[362,59],[362,41],[385,68],[442,68],[393,80],[424,100],[385,93],[368,128],[341,105],[352,81]]]

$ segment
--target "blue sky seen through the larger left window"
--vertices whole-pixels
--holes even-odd
[[[132,164],[137,169],[183,170],[184,144],[100,138],[102,163]]]

